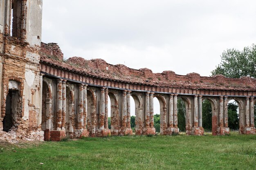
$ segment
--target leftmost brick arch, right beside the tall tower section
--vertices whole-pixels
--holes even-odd
[[[52,125],[52,92],[47,81],[43,81],[42,87],[42,120],[41,129],[44,131],[45,140],[50,139]]]

